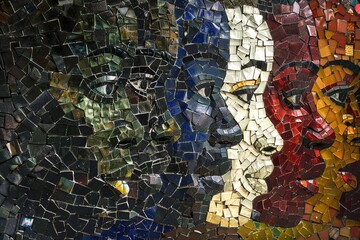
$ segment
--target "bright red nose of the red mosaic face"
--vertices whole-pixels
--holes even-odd
[[[321,150],[330,147],[334,140],[334,130],[318,113],[313,113],[306,128],[303,145],[310,149]]]

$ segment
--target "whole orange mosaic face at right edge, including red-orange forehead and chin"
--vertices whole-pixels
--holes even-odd
[[[358,220],[360,17],[355,6],[341,1],[326,8],[319,6],[316,0],[312,1],[311,5],[315,21],[321,19],[321,14],[327,14],[326,21],[322,23],[323,29],[333,32],[330,38],[319,34],[322,67],[313,92],[317,111],[334,129],[335,141],[330,148],[321,152],[326,168],[319,178],[319,193],[308,201],[310,209],[322,208],[325,211],[309,211],[306,217],[311,221],[324,223],[334,222],[339,218],[347,221]],[[339,13],[337,9],[340,10]],[[351,18],[348,18],[350,15]],[[334,27],[334,22],[341,25]],[[334,47],[334,42],[338,47]]]

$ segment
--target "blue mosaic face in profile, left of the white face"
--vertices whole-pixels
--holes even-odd
[[[242,138],[220,94],[229,57],[227,17],[219,3],[210,8],[200,1],[186,6],[175,1],[175,6],[180,46],[166,99],[182,135],[169,170],[221,175],[230,168],[226,147]]]

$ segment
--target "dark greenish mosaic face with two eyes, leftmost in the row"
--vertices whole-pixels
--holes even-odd
[[[166,169],[170,162],[166,144],[178,139],[180,129],[165,104],[156,102],[155,87],[158,92],[163,88],[173,59],[165,51],[137,46],[135,12],[130,5],[123,5],[113,9],[117,22],[94,13],[83,15],[82,21],[89,15],[103,21],[101,27],[91,21],[79,24],[84,36],[99,28],[104,34],[113,34],[114,42],[108,40],[97,49],[91,49],[91,42],[85,44],[89,53],[79,56],[76,67],[67,74],[51,75],[50,92],[65,111],[82,110],[79,114],[93,130],[86,147],[98,164],[98,176],[126,195],[129,186],[124,185],[124,179],[132,176],[135,166],[140,174]],[[132,36],[124,37],[113,32],[114,26],[135,30]]]

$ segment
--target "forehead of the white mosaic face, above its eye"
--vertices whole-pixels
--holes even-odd
[[[253,80],[261,71],[270,71],[273,41],[259,9],[242,6],[226,9],[230,26],[230,61],[225,82]],[[257,78],[257,77],[255,77]]]

